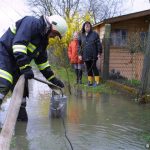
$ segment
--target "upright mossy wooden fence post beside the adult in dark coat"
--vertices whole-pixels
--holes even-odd
[[[110,53],[110,33],[111,25],[105,25],[105,35],[104,35],[104,63],[103,63],[103,79],[109,79],[109,53]]]

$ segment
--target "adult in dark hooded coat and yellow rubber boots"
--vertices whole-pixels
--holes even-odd
[[[99,71],[96,67],[96,61],[102,54],[102,45],[99,35],[92,30],[90,22],[86,21],[82,26],[79,36],[79,59],[85,62],[88,74],[88,86],[97,86],[100,84]],[[95,82],[93,82],[93,77]]]

